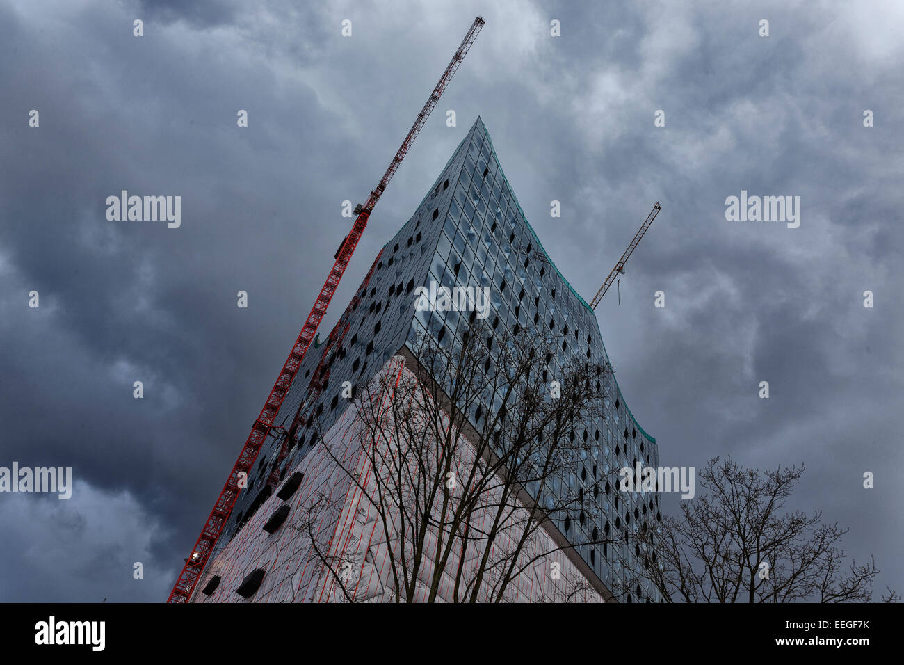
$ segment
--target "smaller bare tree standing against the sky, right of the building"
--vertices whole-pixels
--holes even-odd
[[[869,602],[879,570],[872,558],[846,565],[839,546],[848,529],[822,523],[819,511],[786,512],[803,472],[711,459],[680,517],[631,535],[648,553],[638,576],[652,580],[666,602]],[[890,589],[883,598],[896,599]]]

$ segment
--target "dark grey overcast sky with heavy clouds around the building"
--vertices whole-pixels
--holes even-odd
[[[0,466],[75,478],[68,501],[0,495],[0,600],[165,600],[351,226],[343,201],[377,184],[477,14],[321,336],[479,115],[587,300],[662,204],[621,304],[597,309],[660,462],[805,464],[793,507],[851,527],[876,598],[904,590],[904,5],[303,5],[0,4]],[[181,226],[108,221],[121,190],[181,195]],[[727,221],[741,190],[800,196],[799,228]]]

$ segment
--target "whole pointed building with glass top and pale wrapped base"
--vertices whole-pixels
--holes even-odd
[[[289,428],[299,410],[310,415],[289,432],[288,451],[283,445],[285,429],[278,429],[282,435],[271,436],[264,444],[247,491],[232,509],[192,602],[395,599],[388,559],[398,553],[399,544],[380,537],[380,520],[372,518],[372,507],[363,496],[368,473],[380,469],[373,468],[373,457],[363,453],[363,423],[355,400],[347,399],[346,382],[382,385],[385,398],[392,399],[393,389],[387,387],[392,381],[396,385],[416,381],[412,369],[417,360],[411,351],[415,340],[460,337],[462,328],[469,326],[466,317],[416,307],[416,290],[429,289],[431,282],[448,288],[485,287],[493,318],[510,327],[558,326],[569,335],[573,332],[561,352],[563,362],[570,356],[609,365],[593,310],[546,254],[505,179],[483,121],[477,118],[415,213],[373,262],[331,333],[341,344],[312,347],[306,355],[275,424]],[[312,390],[315,376],[317,386]],[[604,415],[582,423],[585,441],[593,437],[598,457],[580,461],[581,472],[575,478],[560,479],[562,491],[584,479],[592,483],[612,470],[633,468],[634,461],[658,466],[654,438],[636,423],[614,377],[607,380],[610,397]],[[485,412],[490,407],[487,404]],[[480,413],[467,415],[476,425]],[[354,477],[346,469],[354,469]],[[276,489],[267,482],[274,471],[280,481]],[[314,519],[317,501],[328,508],[319,510]],[[587,581],[587,589],[577,598],[584,602],[611,601],[611,590],[624,586],[632,566],[642,565],[640,553],[626,543],[582,544],[596,540],[591,530],[616,534],[632,520],[654,526],[661,519],[654,492],[619,492],[607,484],[598,493],[598,508],[597,524],[553,519],[532,535],[531,547],[555,552],[561,580]],[[353,584],[340,589],[335,571],[346,568]],[[423,588],[415,600],[427,600],[429,580],[418,584]],[[444,574],[440,588],[434,589],[435,599],[455,600],[453,586]],[[564,601],[564,589],[564,584],[532,566],[518,576],[506,600]],[[624,599],[660,600],[645,582],[637,583]]]

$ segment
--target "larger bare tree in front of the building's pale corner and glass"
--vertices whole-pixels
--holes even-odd
[[[360,455],[314,437],[354,489],[323,491],[297,518],[321,584],[348,601],[611,600],[576,573],[589,570],[576,547],[620,538],[599,526],[607,478],[586,424],[603,414],[611,367],[562,361],[562,334],[473,316],[461,328],[419,337],[406,372],[355,386]],[[350,536],[325,539],[325,511],[353,513]]]

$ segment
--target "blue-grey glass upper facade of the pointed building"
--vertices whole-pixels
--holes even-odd
[[[354,384],[376,374],[386,360],[419,334],[440,340],[462,338],[468,326],[465,315],[455,310],[415,310],[414,290],[429,287],[431,281],[449,288],[489,287],[489,318],[498,317],[510,328],[518,323],[522,327],[560,330],[566,336],[565,345],[560,356],[551,361],[553,375],[570,358],[608,365],[594,312],[571,289],[543,250],[505,179],[484,123],[478,118],[415,214],[384,245],[370,281],[359,288],[360,300],[348,318],[350,328],[342,347],[332,349],[327,358],[330,379],[315,404],[314,413],[322,432],[346,408],[341,396],[344,381]],[[276,424],[287,427],[291,423],[322,356],[323,349],[312,346],[308,350]],[[634,468],[635,461],[643,466],[658,466],[655,440],[627,410],[611,376],[608,382],[604,418],[582,423],[578,432],[585,441],[593,442],[592,454],[580,461],[579,474],[553,483],[557,491],[577,494],[581,489],[589,490],[598,479],[617,476],[620,468]],[[483,413],[491,408],[493,404],[485,404]],[[470,416],[477,425],[476,413]],[[288,468],[311,449],[312,432],[302,430],[287,460]],[[257,488],[252,485],[251,491],[240,496],[227,526],[227,538],[266,482],[279,448],[278,439],[271,437],[260,452],[250,479]],[[616,539],[619,530],[632,525],[647,523],[655,527],[660,519],[658,496],[654,492],[621,492],[611,486],[614,484],[610,481],[598,491],[598,523],[590,519],[583,524],[569,520],[569,524],[556,525],[560,532],[571,542],[580,543],[594,539],[594,533]],[[616,548],[620,551],[614,551]],[[627,579],[625,565],[640,564],[636,561],[637,552],[629,551],[624,543],[576,549],[607,585]],[[634,602],[659,600],[655,590],[644,583],[631,596]]]

